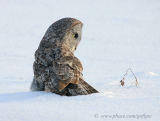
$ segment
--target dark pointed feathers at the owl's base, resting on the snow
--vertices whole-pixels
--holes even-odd
[[[76,96],[76,95],[88,95],[92,93],[98,93],[91,85],[89,85],[84,80],[80,80],[79,84],[69,84],[64,90],[59,94],[66,96]]]

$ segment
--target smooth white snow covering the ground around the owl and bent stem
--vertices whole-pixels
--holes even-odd
[[[159,0],[1,0],[0,15],[0,121],[160,120]],[[84,23],[75,55],[99,94],[29,90],[34,52],[63,17]],[[128,68],[138,87],[131,73],[120,86]]]

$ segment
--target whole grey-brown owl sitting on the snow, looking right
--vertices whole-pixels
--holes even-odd
[[[98,91],[83,80],[82,64],[74,56],[80,40],[82,22],[63,18],[46,31],[35,52],[32,91],[76,96]]]

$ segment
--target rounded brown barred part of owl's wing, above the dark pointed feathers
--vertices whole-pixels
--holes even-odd
[[[74,56],[65,56],[59,61],[54,62],[55,73],[57,76],[58,89],[63,90],[68,84],[79,84],[82,77],[82,64]]]

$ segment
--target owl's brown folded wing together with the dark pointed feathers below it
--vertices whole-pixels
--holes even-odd
[[[59,77],[60,95],[76,96],[98,93],[98,91],[89,85],[82,77],[82,64],[78,58],[66,56],[58,62],[60,68],[57,71]]]

